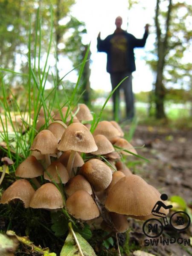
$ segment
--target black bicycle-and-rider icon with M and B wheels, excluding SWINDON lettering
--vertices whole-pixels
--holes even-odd
[[[160,196],[160,199],[163,201],[166,201],[168,199],[168,196],[166,194],[162,194]],[[168,222],[167,216],[164,212],[161,212],[161,208],[164,209],[171,209],[172,205],[166,205],[162,201],[157,201],[157,203],[154,205],[153,209],[151,210],[152,215],[163,218],[164,226],[170,227],[176,231],[184,231],[186,230],[190,223],[190,217],[186,212],[183,211],[177,211],[174,212],[170,216],[170,220]],[[163,224],[162,222],[157,218],[149,218],[143,223],[143,233],[150,237],[150,238],[156,238],[160,236],[163,233]]]

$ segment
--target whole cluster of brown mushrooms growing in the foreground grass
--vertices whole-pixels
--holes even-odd
[[[128,229],[128,216],[149,218],[160,193],[122,162],[122,155],[137,151],[119,124],[101,121],[92,134],[86,105],[79,104],[76,115],[67,112],[64,107],[52,114],[54,121],[36,135],[30,156],[16,169],[21,179],[3,192],[0,203],[19,199],[25,208],[66,207],[74,218],[116,232]],[[44,120],[40,111],[37,130]]]

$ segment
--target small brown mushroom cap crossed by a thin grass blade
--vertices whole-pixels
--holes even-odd
[[[61,182],[64,184],[67,183],[67,181],[69,180],[67,169],[58,160],[52,162],[51,165],[48,166],[46,171],[51,176],[49,177],[47,172],[44,172],[44,178],[46,180],[55,181],[55,183],[60,183],[61,178]]]

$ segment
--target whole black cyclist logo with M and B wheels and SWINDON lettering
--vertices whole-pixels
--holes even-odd
[[[160,198],[161,200],[166,201],[168,199],[168,196],[166,194],[162,194]],[[161,234],[163,233],[164,226],[171,227],[173,230],[176,231],[184,231],[189,227],[191,223],[190,217],[186,212],[183,211],[174,212],[168,222],[166,214],[164,212],[161,212],[161,209],[171,209],[172,207],[172,205],[167,206],[162,201],[157,201],[157,203],[154,205],[151,213],[154,216],[163,218],[163,223],[157,218],[150,218],[144,222],[143,233],[145,234],[145,236],[151,238],[150,240],[145,239],[145,246],[148,246],[150,244],[157,245],[159,242],[162,244],[169,244],[175,242],[177,242],[178,244],[183,243],[184,245],[190,244],[189,239],[176,239],[175,237],[170,237],[169,239],[162,239],[162,237],[160,237],[160,239],[155,240],[155,238],[161,236]]]

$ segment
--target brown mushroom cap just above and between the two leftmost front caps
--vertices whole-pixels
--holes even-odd
[[[36,157],[29,156],[17,167],[15,176],[22,178],[35,178],[43,175],[44,168]]]

